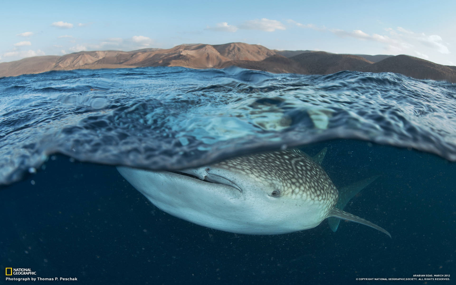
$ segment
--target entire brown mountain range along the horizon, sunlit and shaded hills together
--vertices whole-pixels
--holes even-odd
[[[335,54],[321,51],[278,51],[260,45],[183,44],[170,49],[73,52],[64,56],[27,57],[0,63],[0,77],[78,68],[180,66],[224,68],[238,66],[272,73],[330,74],[342,70],[393,72],[420,79],[456,83],[456,67],[408,55]]]

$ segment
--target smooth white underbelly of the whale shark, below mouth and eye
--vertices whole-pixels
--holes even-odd
[[[296,206],[299,213],[287,214],[285,210],[290,209],[277,208],[271,212],[267,205],[246,204],[238,189],[223,184],[166,171],[124,166],[117,169],[156,207],[208,228],[232,233],[281,234],[314,228],[325,218],[319,208],[305,205]]]

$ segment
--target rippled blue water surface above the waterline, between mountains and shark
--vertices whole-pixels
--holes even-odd
[[[0,78],[0,96],[0,184],[56,152],[171,170],[345,138],[456,161],[455,85],[394,73],[80,69]]]

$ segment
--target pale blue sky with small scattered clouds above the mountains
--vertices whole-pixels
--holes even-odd
[[[455,11],[455,0],[4,1],[0,62],[241,41],[456,65]]]

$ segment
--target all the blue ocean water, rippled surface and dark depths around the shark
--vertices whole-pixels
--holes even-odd
[[[80,284],[376,284],[356,278],[454,273],[452,83],[73,70],[0,78],[0,112],[2,267]],[[270,236],[204,228],[151,205],[114,167],[178,170],[288,147],[327,147],[322,166],[338,188],[380,175],[344,210],[392,238],[357,223],[333,233],[326,221]],[[394,281],[410,282],[434,281]]]

